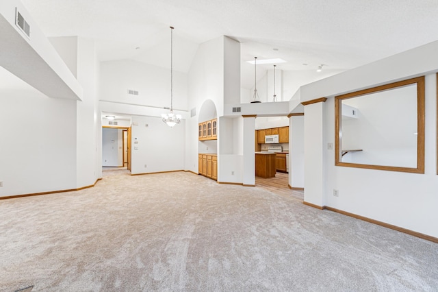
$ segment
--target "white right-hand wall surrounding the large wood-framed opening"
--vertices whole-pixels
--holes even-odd
[[[335,167],[334,150],[326,147],[327,142],[334,143],[335,137],[334,101],[329,98],[322,112],[312,112],[316,110],[309,108],[313,105],[305,106],[306,201],[307,197],[316,198],[314,202],[319,198],[321,204],[332,208],[438,237],[438,212],[435,208],[438,205],[437,49],[438,42],[433,42],[301,88],[302,100],[311,100],[426,74],[425,173]],[[307,173],[318,173],[321,166],[313,166],[315,159],[313,153],[308,153],[307,145],[313,139],[312,128],[321,122],[325,125],[325,138],[322,142],[315,141],[320,147],[315,151],[322,151],[324,155],[324,186],[322,190],[308,189]],[[339,191],[339,197],[333,196],[333,189]]]

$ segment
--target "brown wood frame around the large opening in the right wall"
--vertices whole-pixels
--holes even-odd
[[[437,77],[438,80],[438,77]],[[340,145],[342,144],[341,130],[341,102],[343,99],[350,99],[352,97],[358,97],[368,93],[374,93],[382,90],[389,90],[391,88],[397,88],[409,84],[417,84],[417,167],[391,167],[383,165],[363,165],[359,163],[342,162],[340,156]],[[411,78],[409,80],[403,80],[400,82],[393,82],[391,84],[385,84],[382,86],[376,86],[364,90],[355,91],[354,93],[347,93],[345,95],[338,95],[335,97],[335,166],[339,167],[355,167],[361,169],[377,169],[384,171],[400,171],[407,173],[424,173],[424,76]],[[437,93],[438,99],[438,93]],[[438,125],[438,124],[437,124]],[[438,132],[437,132],[438,133]],[[437,138],[438,143],[438,138]],[[438,160],[437,160],[438,168]],[[438,169],[437,169],[438,171]],[[438,172],[437,172],[438,174]]]

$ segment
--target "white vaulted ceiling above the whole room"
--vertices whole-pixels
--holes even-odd
[[[200,43],[221,35],[242,43],[242,64],[255,56],[283,58],[287,63],[277,69],[315,70],[325,64],[324,70],[333,72],[438,40],[438,0],[22,2],[46,36],[96,39],[103,61],[131,59],[170,67],[172,25],[174,67],[182,72],[189,71]],[[242,87],[251,86],[253,65],[244,65]]]

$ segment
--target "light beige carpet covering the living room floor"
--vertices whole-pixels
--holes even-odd
[[[0,201],[0,291],[438,289],[436,243],[192,173],[104,175]]]

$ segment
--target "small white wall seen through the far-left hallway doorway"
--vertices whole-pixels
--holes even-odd
[[[123,134],[121,129],[102,129],[102,166],[123,167]]]

